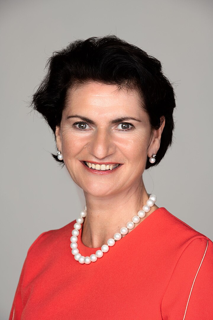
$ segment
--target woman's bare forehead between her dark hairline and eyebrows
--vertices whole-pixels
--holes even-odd
[[[79,114],[98,118],[134,116],[148,120],[137,90],[118,89],[117,85],[89,82],[67,91],[64,116]]]

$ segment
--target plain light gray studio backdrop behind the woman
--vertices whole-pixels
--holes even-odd
[[[174,144],[144,172],[156,204],[213,240],[212,3],[1,1],[1,319],[42,232],[78,217],[83,191],[50,156],[52,132],[27,102],[47,58],[74,39],[115,34],[163,63],[175,85]]]

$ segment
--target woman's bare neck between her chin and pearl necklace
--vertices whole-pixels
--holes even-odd
[[[81,240],[89,248],[98,248],[107,244],[109,238],[113,238],[116,232],[120,232],[120,228],[126,227],[126,223],[132,221],[132,217],[137,215],[139,210],[142,210],[149,198],[142,179],[140,185],[131,187],[117,195],[94,197],[88,193],[84,194],[87,216],[82,225]],[[135,224],[134,228],[157,208],[154,204],[146,216]]]

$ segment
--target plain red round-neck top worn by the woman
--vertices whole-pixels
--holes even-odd
[[[213,319],[213,242],[164,207],[80,264],[72,221],[42,233],[28,250],[10,320]],[[101,248],[86,247],[82,255]]]

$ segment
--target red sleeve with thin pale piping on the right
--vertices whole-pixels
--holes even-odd
[[[181,254],[161,303],[163,320],[213,320],[213,242],[192,240]]]

